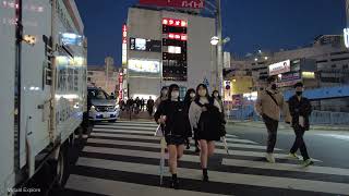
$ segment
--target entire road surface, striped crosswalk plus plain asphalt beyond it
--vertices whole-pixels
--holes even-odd
[[[217,143],[210,159],[210,183],[203,184],[197,154],[186,150],[180,161],[181,189],[158,185],[159,145],[153,136],[156,125],[146,122],[117,122],[96,125],[88,139],[74,144],[69,152],[69,175],[64,188],[49,187],[48,172],[34,177],[27,187],[40,187],[35,195],[346,195],[349,194],[349,132],[309,131],[305,142],[315,166],[285,156],[293,143],[290,128],[280,128],[277,163],[264,159],[265,127],[250,123],[227,126],[230,155]],[[166,167],[167,170],[167,167]],[[340,173],[342,172],[342,173]]]

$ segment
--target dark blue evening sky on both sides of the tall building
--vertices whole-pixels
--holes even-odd
[[[121,64],[121,27],[137,0],[75,0],[88,38],[88,64],[111,56]],[[311,44],[318,35],[341,34],[345,0],[221,0],[226,50],[243,57]]]

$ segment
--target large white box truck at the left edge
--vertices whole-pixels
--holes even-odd
[[[74,0],[0,2],[0,196],[48,162],[63,183],[87,117],[83,30]]]

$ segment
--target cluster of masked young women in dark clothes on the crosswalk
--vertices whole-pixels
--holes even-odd
[[[214,154],[215,142],[226,135],[218,91],[210,96],[204,84],[200,84],[196,90],[189,89],[183,101],[180,100],[178,85],[161,89],[154,118],[161,124],[167,143],[171,187],[179,188],[178,160],[182,157],[185,145],[190,148],[191,137],[195,140],[195,151],[200,151],[203,181],[208,182],[207,161]]]

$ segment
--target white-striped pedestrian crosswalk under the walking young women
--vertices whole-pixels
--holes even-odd
[[[159,138],[153,122],[119,121],[96,124],[72,169],[67,194],[72,195],[346,195],[349,170],[315,160],[302,168],[276,149],[277,163],[265,161],[265,146],[227,134],[230,155],[222,143],[208,166],[209,183],[202,182],[200,157],[192,147],[179,162],[180,191],[159,186]],[[193,142],[191,142],[193,144]],[[193,146],[193,145],[192,145]]]

